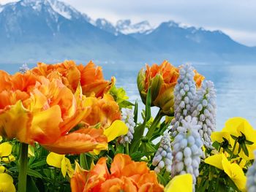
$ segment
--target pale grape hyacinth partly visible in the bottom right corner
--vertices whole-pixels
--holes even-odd
[[[252,166],[249,167],[246,173],[246,188],[248,192],[256,191],[256,150],[255,150],[255,161]]]

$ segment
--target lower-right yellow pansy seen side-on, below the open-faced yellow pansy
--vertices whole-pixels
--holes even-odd
[[[212,155],[206,158],[205,162],[206,164],[210,164],[211,166],[224,170],[240,191],[246,191],[246,176],[244,175],[243,170],[238,164],[231,164],[223,153]]]

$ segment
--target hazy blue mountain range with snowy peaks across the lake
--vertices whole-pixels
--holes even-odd
[[[246,47],[221,31],[169,21],[154,28],[88,15],[58,0],[0,5],[1,63],[97,59],[101,61],[256,61]]]

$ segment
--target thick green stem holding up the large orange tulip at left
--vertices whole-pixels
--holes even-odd
[[[26,192],[26,177],[28,172],[28,150],[28,144],[20,143],[18,192]]]

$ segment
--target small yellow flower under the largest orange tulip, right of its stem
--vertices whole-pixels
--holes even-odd
[[[66,177],[66,174],[68,174],[71,178],[74,174],[74,169],[72,169],[70,161],[68,158],[65,158],[65,155],[50,152],[46,158],[46,162],[50,166],[60,168],[63,177]]]

